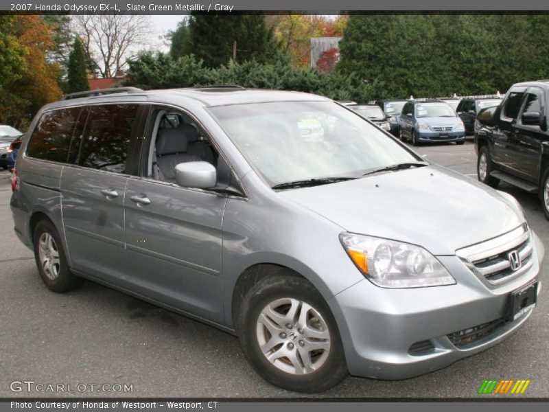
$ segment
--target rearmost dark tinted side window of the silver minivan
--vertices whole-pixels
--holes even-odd
[[[27,155],[36,159],[71,163],[78,153],[78,139],[85,116],[79,121],[80,107],[46,112],[40,117],[30,137]]]

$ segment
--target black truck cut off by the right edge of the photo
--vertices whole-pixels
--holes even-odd
[[[549,81],[514,84],[502,103],[477,116],[478,180],[537,193],[549,218]]]

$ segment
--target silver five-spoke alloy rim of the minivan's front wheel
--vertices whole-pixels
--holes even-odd
[[[266,359],[288,374],[318,370],[331,348],[326,321],[316,308],[293,298],[272,301],[257,319],[256,336]]]

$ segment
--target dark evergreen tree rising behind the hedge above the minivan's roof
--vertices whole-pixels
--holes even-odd
[[[191,14],[189,19],[189,52],[207,67],[218,67],[236,61],[266,62],[277,56],[277,45],[261,14]]]

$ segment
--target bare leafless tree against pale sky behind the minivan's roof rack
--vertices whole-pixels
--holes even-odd
[[[74,31],[82,38],[92,73],[114,77],[126,67],[126,60],[150,46],[150,16],[93,14],[73,16]]]

